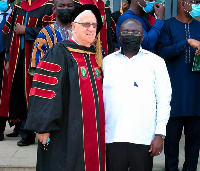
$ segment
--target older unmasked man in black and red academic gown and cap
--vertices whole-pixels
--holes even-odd
[[[105,171],[102,75],[92,45],[103,26],[100,12],[82,5],[71,24],[72,38],[49,49],[30,90],[25,128],[40,141],[37,171]]]

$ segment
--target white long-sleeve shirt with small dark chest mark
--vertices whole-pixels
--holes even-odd
[[[128,58],[117,51],[103,60],[106,143],[150,145],[166,135],[171,84],[165,62],[140,48]]]

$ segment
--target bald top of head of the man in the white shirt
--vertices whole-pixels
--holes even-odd
[[[141,34],[143,34],[143,27],[142,24],[135,19],[128,19],[126,21],[124,21],[120,27],[120,32],[122,31],[133,31],[133,30],[137,30],[139,31]]]

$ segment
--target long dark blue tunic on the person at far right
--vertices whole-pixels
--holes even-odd
[[[172,84],[171,117],[200,116],[200,72],[192,71],[196,50],[187,41],[200,41],[199,28],[195,19],[182,23],[173,17],[165,21],[158,41]]]

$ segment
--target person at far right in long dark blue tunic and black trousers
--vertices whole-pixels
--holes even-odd
[[[183,171],[196,171],[200,149],[200,72],[192,71],[200,55],[200,1],[178,0],[178,14],[165,21],[158,54],[166,61],[172,83],[170,119],[164,143],[166,171],[178,170],[179,141],[184,127]]]

